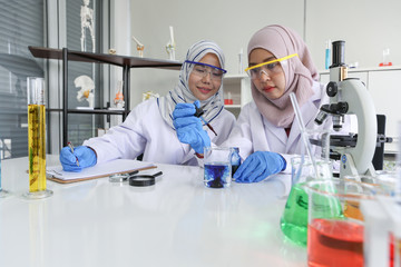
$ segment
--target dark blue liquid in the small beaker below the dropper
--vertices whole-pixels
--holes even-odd
[[[205,165],[204,184],[211,188],[224,188],[231,184],[229,165],[227,164],[208,164]]]

